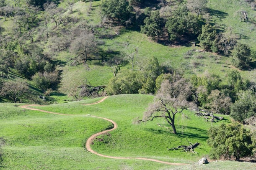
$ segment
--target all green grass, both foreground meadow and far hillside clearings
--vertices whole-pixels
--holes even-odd
[[[59,6],[67,8],[65,2]],[[13,3],[13,1],[8,0]],[[84,18],[88,25],[101,23],[100,5],[101,0],[93,1],[91,10],[90,3],[77,2],[73,6],[70,16]],[[248,44],[252,50],[256,50],[256,28],[250,22],[241,22],[239,12],[246,10],[248,17],[256,20],[255,10],[244,0],[208,0],[207,8],[211,11],[210,20],[216,23],[224,33],[239,37],[238,42]],[[68,11],[65,12],[65,15]],[[5,28],[3,35],[8,36],[8,31],[13,29],[12,18],[7,21],[0,20],[1,27]],[[50,25],[53,27],[54,23]],[[227,83],[227,72],[235,69],[232,56],[219,56],[216,53],[196,52],[186,56],[193,49],[202,50],[189,44],[184,46],[171,46],[156,43],[138,31],[124,27],[106,26],[96,31],[113,34],[119,31],[114,38],[103,38],[104,49],[127,52],[129,48],[137,48],[139,58],[156,57],[160,64],[168,63],[173,69],[178,70],[184,77],[190,78],[192,74],[204,73],[217,74],[222,79],[221,84]],[[38,37],[35,37],[35,39]],[[49,42],[41,42],[41,46],[47,47]],[[49,49],[45,48],[45,52]],[[211,148],[207,145],[207,130],[221,123],[230,123],[229,116],[216,123],[206,122],[203,117],[197,117],[192,111],[184,111],[184,114],[176,115],[176,129],[178,134],[172,134],[170,130],[159,127],[157,124],[168,127],[164,119],[154,119],[141,124],[135,124],[134,120],[141,119],[154,96],[142,94],[124,94],[109,96],[101,103],[87,105],[99,101],[102,98],[73,101],[74,94],[78,94],[78,86],[86,81],[93,86],[107,85],[113,77],[112,68],[98,64],[98,61],[88,61],[90,70],[84,66],[70,66],[72,54],[62,51],[57,54],[57,60],[65,63],[57,69],[62,70],[59,89],[54,91],[49,101],[38,98],[42,95],[34,84],[18,77],[12,70],[9,79],[4,81],[21,79],[30,86],[26,96],[21,98],[22,103],[50,104],[34,108],[68,115],[49,114],[46,112],[31,111],[18,107],[22,104],[0,103],[0,137],[3,137],[3,162],[0,170],[255,170],[256,164],[235,161],[214,161],[207,165],[197,165],[202,157],[208,157]],[[256,61],[256,58],[253,58]],[[138,69],[135,66],[135,69]],[[127,64],[122,66],[118,74],[131,70]],[[241,71],[241,76],[256,81],[255,69]],[[118,76],[117,74],[117,76]],[[253,77],[254,75],[254,77]],[[2,101],[7,101],[3,99]],[[71,101],[71,102],[70,102]],[[137,160],[137,159],[111,159],[100,157],[85,149],[86,140],[97,132],[111,129],[113,125],[103,119],[91,117],[106,117],[117,123],[114,131],[98,137],[92,149],[96,152],[115,157],[147,157],[173,163],[187,163],[188,165],[165,165],[162,163]],[[100,139],[100,140],[99,140]],[[182,152],[181,150],[170,151],[167,148],[189,145],[187,142],[199,142],[195,152]]]

